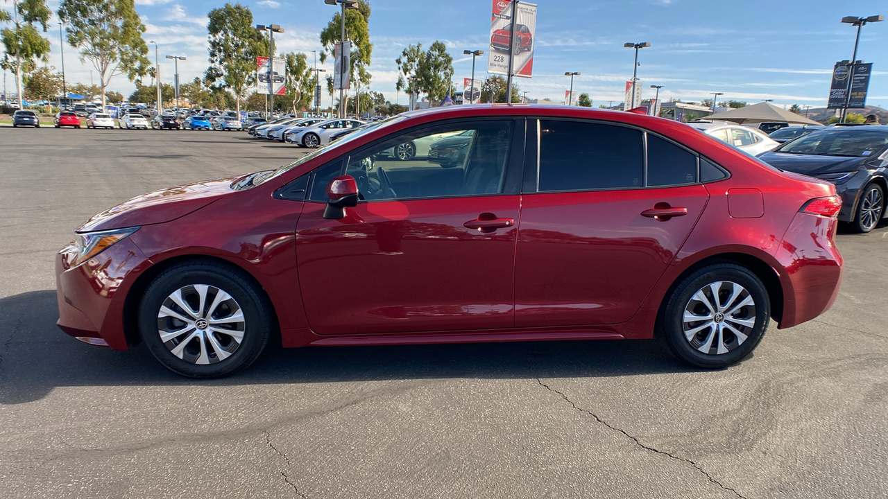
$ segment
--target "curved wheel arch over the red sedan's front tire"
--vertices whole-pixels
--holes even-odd
[[[151,284],[152,281],[157,278],[158,275],[160,275],[161,273],[163,273],[163,271],[169,269],[170,267],[191,262],[205,262],[224,265],[232,272],[241,275],[243,279],[246,279],[255,284],[260,291],[260,296],[267,301],[267,305],[272,311],[272,321],[274,323],[272,334],[274,335],[274,337],[277,337],[278,341],[280,341],[281,328],[278,321],[277,309],[274,308],[274,301],[271,299],[271,297],[268,296],[268,293],[265,287],[262,286],[262,283],[259,282],[258,279],[256,279],[256,277],[252,273],[250,273],[249,270],[227,258],[212,255],[189,254],[177,255],[161,260],[155,265],[151,265],[150,267],[148,267],[144,272],[139,274],[135,281],[133,281],[130,289],[127,291],[126,299],[123,301],[123,334],[126,338],[127,345],[139,345],[139,343],[142,342],[142,337],[139,333],[139,298],[145,294],[145,290],[147,289],[147,287]]]

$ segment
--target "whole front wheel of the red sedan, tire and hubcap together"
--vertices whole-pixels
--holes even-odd
[[[164,367],[219,377],[249,366],[274,327],[261,289],[227,265],[193,262],[157,276],[139,304],[139,332]]]

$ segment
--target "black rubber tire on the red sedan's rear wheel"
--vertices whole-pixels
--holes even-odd
[[[719,303],[716,304],[718,312],[713,313],[710,312],[711,307],[693,298],[700,291],[711,301],[713,293],[710,284],[717,282],[723,284],[718,287]],[[741,293],[728,303],[734,292],[731,284],[740,285],[746,294]],[[752,305],[737,307],[736,312],[727,317],[733,307],[742,303],[744,297],[750,297]],[[724,311],[721,309],[723,300],[725,300]],[[690,309],[691,313],[701,314],[702,317],[702,314],[709,313],[712,318],[685,322],[686,309]],[[726,368],[756,348],[765,336],[770,317],[771,302],[768,299],[767,289],[754,273],[741,265],[715,264],[691,273],[678,283],[665,302],[657,329],[679,360],[698,368]],[[741,326],[739,321],[753,323]],[[685,333],[686,323],[691,333],[690,337]],[[707,324],[712,326],[709,327]],[[724,325],[730,325],[741,335],[745,335],[745,338],[733,334]],[[694,329],[701,330],[694,334]],[[702,348],[706,348],[709,352],[702,352]],[[725,348],[726,352],[719,353],[718,350],[722,348]]]

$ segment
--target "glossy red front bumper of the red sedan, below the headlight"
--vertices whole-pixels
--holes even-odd
[[[91,345],[126,350],[123,306],[132,282],[150,261],[129,238],[72,265],[76,255],[74,244],[56,255],[59,329]]]

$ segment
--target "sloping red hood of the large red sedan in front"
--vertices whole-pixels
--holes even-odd
[[[85,233],[121,227],[163,224],[163,222],[169,222],[184,217],[195,210],[200,210],[226,194],[234,193],[231,185],[242,177],[217,178],[142,194],[122,202],[114,208],[102,211],[87,220],[75,232]]]

